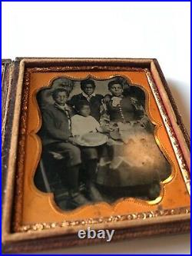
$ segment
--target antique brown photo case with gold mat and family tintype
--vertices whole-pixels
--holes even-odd
[[[6,252],[88,243],[77,236],[88,227],[114,229],[114,241],[189,231],[190,139],[156,59],[11,65]]]

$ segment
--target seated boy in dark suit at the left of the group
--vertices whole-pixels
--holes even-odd
[[[81,151],[71,141],[71,115],[72,108],[66,105],[69,93],[64,88],[58,88],[52,93],[54,105],[41,108],[42,126],[39,135],[43,147],[55,151],[65,158],[67,156],[68,190],[72,206],[78,207],[87,204],[78,190],[79,166],[81,164]]]

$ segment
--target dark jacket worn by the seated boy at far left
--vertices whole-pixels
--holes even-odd
[[[73,111],[68,111],[69,116],[73,115]],[[70,118],[65,111],[58,108],[57,105],[47,105],[41,108],[42,125],[38,135],[41,137],[43,145],[53,142],[67,141],[71,135]]]

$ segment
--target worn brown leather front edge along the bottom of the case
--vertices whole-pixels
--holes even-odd
[[[190,231],[190,221],[169,222],[164,224],[152,224],[147,226],[139,226],[134,228],[116,229],[114,238],[111,242],[122,241],[125,239],[165,235],[165,234],[184,234]],[[102,239],[79,239],[77,234],[60,235],[58,237],[38,238],[34,241],[20,241],[12,244],[4,244],[3,253],[27,253],[38,252],[43,250],[54,250],[58,248],[70,248],[74,246],[82,246],[85,244],[101,244]]]

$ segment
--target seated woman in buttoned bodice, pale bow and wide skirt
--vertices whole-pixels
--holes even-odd
[[[157,146],[154,125],[147,118],[143,102],[139,104],[131,97],[121,81],[117,78],[108,83],[111,99],[104,115],[109,118],[106,125],[111,129],[108,143],[113,155],[101,159],[97,181],[108,187],[107,191],[127,188],[127,196],[137,196],[141,191],[141,198],[152,200],[160,194],[160,181],[169,177],[170,164]]]

